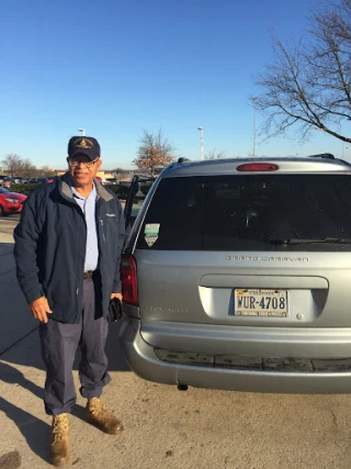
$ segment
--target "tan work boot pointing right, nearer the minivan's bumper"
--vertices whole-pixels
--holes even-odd
[[[123,431],[122,423],[105,409],[101,398],[88,399],[86,418],[91,425],[110,435],[118,435]]]

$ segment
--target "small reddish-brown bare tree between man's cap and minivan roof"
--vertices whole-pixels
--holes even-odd
[[[174,149],[173,145],[163,137],[161,130],[156,134],[144,130],[137,158],[133,160],[133,165],[143,171],[149,170],[154,176],[155,168],[165,167],[174,159]]]

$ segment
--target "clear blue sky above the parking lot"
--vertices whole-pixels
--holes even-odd
[[[2,0],[0,160],[65,167],[67,142],[84,127],[102,147],[103,169],[132,168],[143,129],[177,155],[248,156],[252,76],[271,58],[270,31],[283,41],[306,26],[317,0]],[[260,123],[258,115],[258,125]],[[341,156],[321,132],[301,146],[261,142],[257,154]],[[348,153],[350,152],[350,158]],[[351,160],[351,148],[344,149]]]

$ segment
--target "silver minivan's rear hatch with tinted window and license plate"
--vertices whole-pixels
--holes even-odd
[[[350,204],[348,174],[162,178],[134,252],[141,335],[351,327]]]

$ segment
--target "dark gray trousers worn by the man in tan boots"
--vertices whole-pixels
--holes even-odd
[[[70,412],[76,404],[72,368],[78,346],[81,349],[81,395],[88,399],[100,397],[102,388],[111,381],[104,351],[109,323],[95,308],[99,287],[90,278],[83,281],[83,310],[78,324],[49,319],[39,325],[42,357],[46,366],[44,403],[48,415]]]

